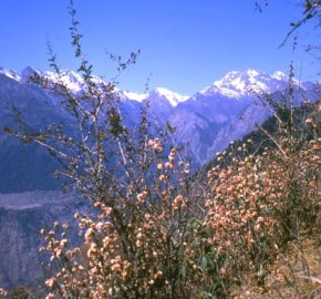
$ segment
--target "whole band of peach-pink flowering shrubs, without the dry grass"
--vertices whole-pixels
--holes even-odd
[[[96,200],[94,216],[75,214],[82,247],[69,248],[66,225],[42,230],[40,250],[61,265],[45,281],[46,298],[224,298],[248,275],[263,286],[280,250],[320,227],[321,140],[278,142],[282,152],[255,156],[247,155],[248,141],[229,165],[214,167],[198,203],[205,209],[193,202],[188,164],[175,163],[172,148],[142,192],[128,186],[115,206]],[[163,152],[158,140],[147,148]]]

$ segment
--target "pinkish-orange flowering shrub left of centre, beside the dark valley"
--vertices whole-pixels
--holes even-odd
[[[159,140],[147,142],[146,154],[162,152]],[[48,298],[187,298],[188,219],[196,209],[186,193],[189,165],[176,159],[172,148],[167,161],[157,162],[156,181],[141,192],[128,185],[122,198],[95,200],[94,216],[75,214],[81,248],[69,248],[66,225],[41,230],[46,246],[40,251],[61,266],[45,281]]]

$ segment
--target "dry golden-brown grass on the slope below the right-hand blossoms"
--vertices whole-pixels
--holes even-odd
[[[251,277],[232,292],[235,299],[321,298],[321,235],[293,241],[271,265],[265,287]]]

